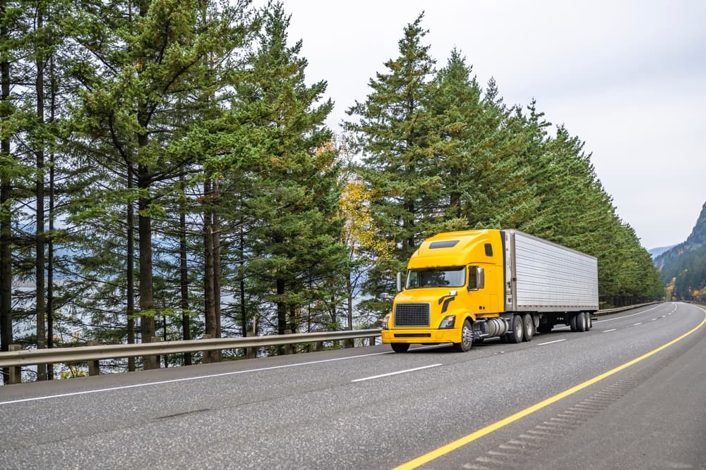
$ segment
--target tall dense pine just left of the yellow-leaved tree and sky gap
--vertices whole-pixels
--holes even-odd
[[[280,334],[308,323],[302,309],[330,296],[329,281],[345,263],[335,221],[337,154],[323,125],[333,104],[320,102],[325,82],[305,85],[301,41],[289,47],[287,27],[282,5],[270,6],[234,101],[241,130],[249,132],[240,155],[249,154],[251,165],[229,178],[234,187],[223,188],[241,194],[238,211],[249,228],[244,272],[249,285],[261,286],[265,304],[274,304]]]

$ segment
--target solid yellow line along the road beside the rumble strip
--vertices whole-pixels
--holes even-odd
[[[701,311],[706,314],[706,310],[702,309],[701,307],[697,307]],[[428,462],[431,462],[433,459],[437,459],[438,457],[441,457],[442,455],[448,454],[449,452],[453,452],[454,450],[458,449],[459,447],[462,447],[466,444],[472,443],[474,440],[482,438],[484,435],[488,435],[492,433],[493,431],[497,431],[500,428],[503,428],[505,426],[508,426],[510,423],[514,423],[515,421],[524,418],[525,416],[532,414],[534,412],[537,412],[538,410],[548,407],[552,403],[556,403],[559,400],[568,397],[569,395],[573,395],[575,392],[578,392],[580,390],[583,390],[584,388],[589,387],[590,385],[593,385],[594,383],[597,383],[599,381],[602,381],[604,378],[612,376],[614,373],[618,373],[620,371],[623,371],[624,369],[627,369],[630,366],[633,366],[637,364],[638,362],[647,359],[650,356],[653,356],[654,354],[657,354],[658,352],[664,350],[667,347],[670,347],[671,345],[674,345],[675,342],[681,341],[684,338],[686,338],[688,335],[694,333],[696,330],[701,328],[706,324],[706,319],[703,319],[701,323],[698,324],[693,330],[689,330],[688,332],[684,333],[680,337],[671,340],[670,342],[666,343],[665,345],[662,345],[658,347],[656,350],[652,350],[648,352],[647,354],[643,354],[642,356],[633,359],[632,361],[628,361],[625,364],[622,364],[621,366],[617,366],[615,369],[611,369],[610,371],[607,371],[605,373],[602,373],[599,376],[595,376],[594,378],[591,378],[584,383],[580,383],[579,385],[576,385],[575,387],[569,388],[568,390],[564,390],[561,393],[558,393],[557,395],[554,395],[554,397],[549,397],[546,400],[539,402],[537,404],[533,404],[529,408],[525,408],[520,412],[517,412],[511,416],[508,416],[505,419],[501,419],[500,421],[497,421],[496,423],[493,423],[489,426],[486,426],[482,429],[479,429],[478,431],[475,431],[474,433],[470,433],[469,435],[465,435],[464,437],[453,441],[453,443],[448,443],[446,445],[443,445],[441,447],[438,447],[436,450],[432,450],[431,452],[421,455],[417,457],[416,459],[410,460],[409,462],[402,464],[400,466],[396,466],[393,470],[409,470],[409,469],[415,469],[418,466],[424,465]]]

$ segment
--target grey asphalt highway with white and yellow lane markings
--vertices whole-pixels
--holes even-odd
[[[705,320],[8,385],[0,468],[706,469]]]

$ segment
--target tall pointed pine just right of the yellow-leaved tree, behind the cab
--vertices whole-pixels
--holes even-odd
[[[405,27],[399,56],[370,80],[366,101],[347,111],[358,119],[345,128],[353,133],[352,148],[363,156],[361,177],[371,194],[377,236],[396,247],[393,259],[371,272],[367,290],[373,294],[389,292],[392,273],[439,228],[434,209],[442,181],[434,161],[440,135],[431,111],[436,70],[429,46],[422,44],[428,32],[421,27],[423,18]]]

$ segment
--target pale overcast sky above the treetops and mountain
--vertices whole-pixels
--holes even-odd
[[[496,79],[505,104],[537,99],[546,120],[585,142],[645,248],[688,237],[706,202],[706,1],[282,3],[307,82],[328,82],[335,132],[424,11],[437,68],[456,47],[481,85]]]

